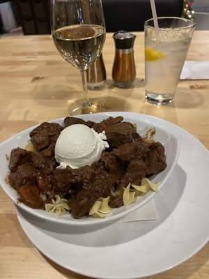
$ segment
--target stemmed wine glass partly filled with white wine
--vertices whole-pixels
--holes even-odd
[[[100,112],[102,102],[89,100],[86,70],[98,58],[105,40],[101,0],[51,0],[51,31],[57,50],[82,75],[84,101],[70,104],[68,112]]]

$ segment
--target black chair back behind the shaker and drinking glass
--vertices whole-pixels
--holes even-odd
[[[144,31],[152,11],[149,0],[102,0],[107,32]],[[158,17],[180,17],[183,0],[155,0]]]

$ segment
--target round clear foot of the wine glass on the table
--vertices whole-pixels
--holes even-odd
[[[70,115],[95,114],[103,111],[104,103],[98,99],[91,99],[86,103],[78,100],[74,103],[71,103],[68,107],[68,112]]]

